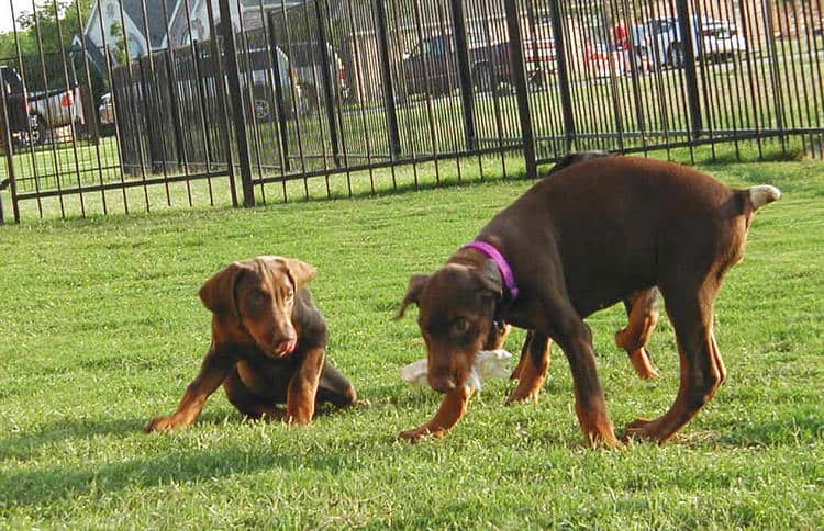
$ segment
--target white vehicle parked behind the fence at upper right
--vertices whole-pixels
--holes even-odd
[[[746,39],[738,35],[735,24],[725,20],[690,18],[692,49],[703,60],[728,60],[747,50]],[[675,16],[645,22],[646,35],[657,66],[683,66],[684,43],[679,20]]]

